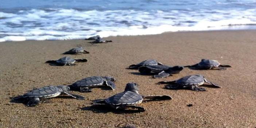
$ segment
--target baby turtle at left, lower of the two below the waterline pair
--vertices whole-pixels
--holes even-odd
[[[52,66],[64,66],[64,65],[74,66],[75,62],[87,62],[87,59],[72,59],[70,57],[62,57],[58,60],[46,61],[45,63],[49,63]]]

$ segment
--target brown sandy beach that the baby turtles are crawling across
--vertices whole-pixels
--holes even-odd
[[[115,128],[126,124],[138,128],[255,128],[256,127],[256,31],[174,32],[160,35],[109,37],[111,43],[90,44],[88,40],[24,41],[0,43],[0,127]],[[77,66],[50,66],[44,62],[63,57],[61,53],[83,46],[90,54]],[[190,70],[162,79],[127,70],[131,64],[157,59],[167,65],[189,65],[202,58],[232,65],[228,70]],[[222,88],[206,92],[167,90],[158,81],[203,74]],[[52,98],[36,107],[10,102],[9,97],[33,87],[69,85],[92,75],[112,75],[117,89],[94,88],[79,93],[86,100],[67,96]],[[122,92],[127,82],[137,82],[140,94],[168,94],[170,101],[140,104],[147,110],[133,113],[90,108],[90,100]],[[188,104],[193,104],[188,107]]]

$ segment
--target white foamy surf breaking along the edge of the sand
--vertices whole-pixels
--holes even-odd
[[[17,13],[0,12],[0,42],[220,30],[247,24],[256,25],[256,9],[242,11],[31,9],[20,10]]]

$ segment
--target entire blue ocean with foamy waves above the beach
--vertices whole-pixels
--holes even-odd
[[[0,0],[0,42],[255,26],[256,0]]]

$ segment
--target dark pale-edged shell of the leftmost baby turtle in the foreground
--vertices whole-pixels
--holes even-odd
[[[46,86],[38,89],[31,90],[30,92],[23,95],[26,97],[46,97],[49,95],[54,95],[59,92],[58,87],[56,86]]]

